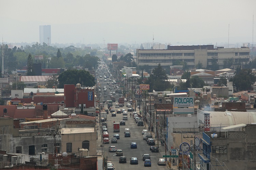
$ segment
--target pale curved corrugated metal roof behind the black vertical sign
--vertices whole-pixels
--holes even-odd
[[[207,112],[210,113],[211,127],[222,127],[256,123],[256,112]]]

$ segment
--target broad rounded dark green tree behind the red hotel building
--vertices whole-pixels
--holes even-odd
[[[64,84],[80,83],[83,86],[94,86],[94,76],[85,70],[66,70],[60,73],[59,77],[59,88],[63,88]]]

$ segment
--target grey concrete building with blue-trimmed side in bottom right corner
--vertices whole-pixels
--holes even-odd
[[[200,170],[211,169],[256,169],[256,146],[254,124],[230,126],[225,132],[204,132],[203,153],[200,158]],[[229,131],[232,130],[232,131]]]

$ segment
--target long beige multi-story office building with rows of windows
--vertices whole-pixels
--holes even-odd
[[[216,62],[219,69],[224,67],[224,61],[233,58],[236,63],[246,64],[250,62],[250,49],[241,48],[214,48],[213,45],[188,45],[167,46],[167,50],[141,50],[137,49],[138,66],[148,65],[155,68],[158,63],[167,68],[173,66],[177,61],[186,62],[189,68],[195,68],[200,62],[203,67]]]

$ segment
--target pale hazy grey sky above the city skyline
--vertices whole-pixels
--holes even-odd
[[[39,42],[51,25],[52,43],[252,43],[256,0],[0,0],[5,42]],[[256,21],[256,15],[254,18]],[[254,30],[256,30],[254,24]],[[254,33],[254,35],[256,32]],[[255,37],[255,36],[254,36]],[[254,38],[254,44],[256,38]]]

